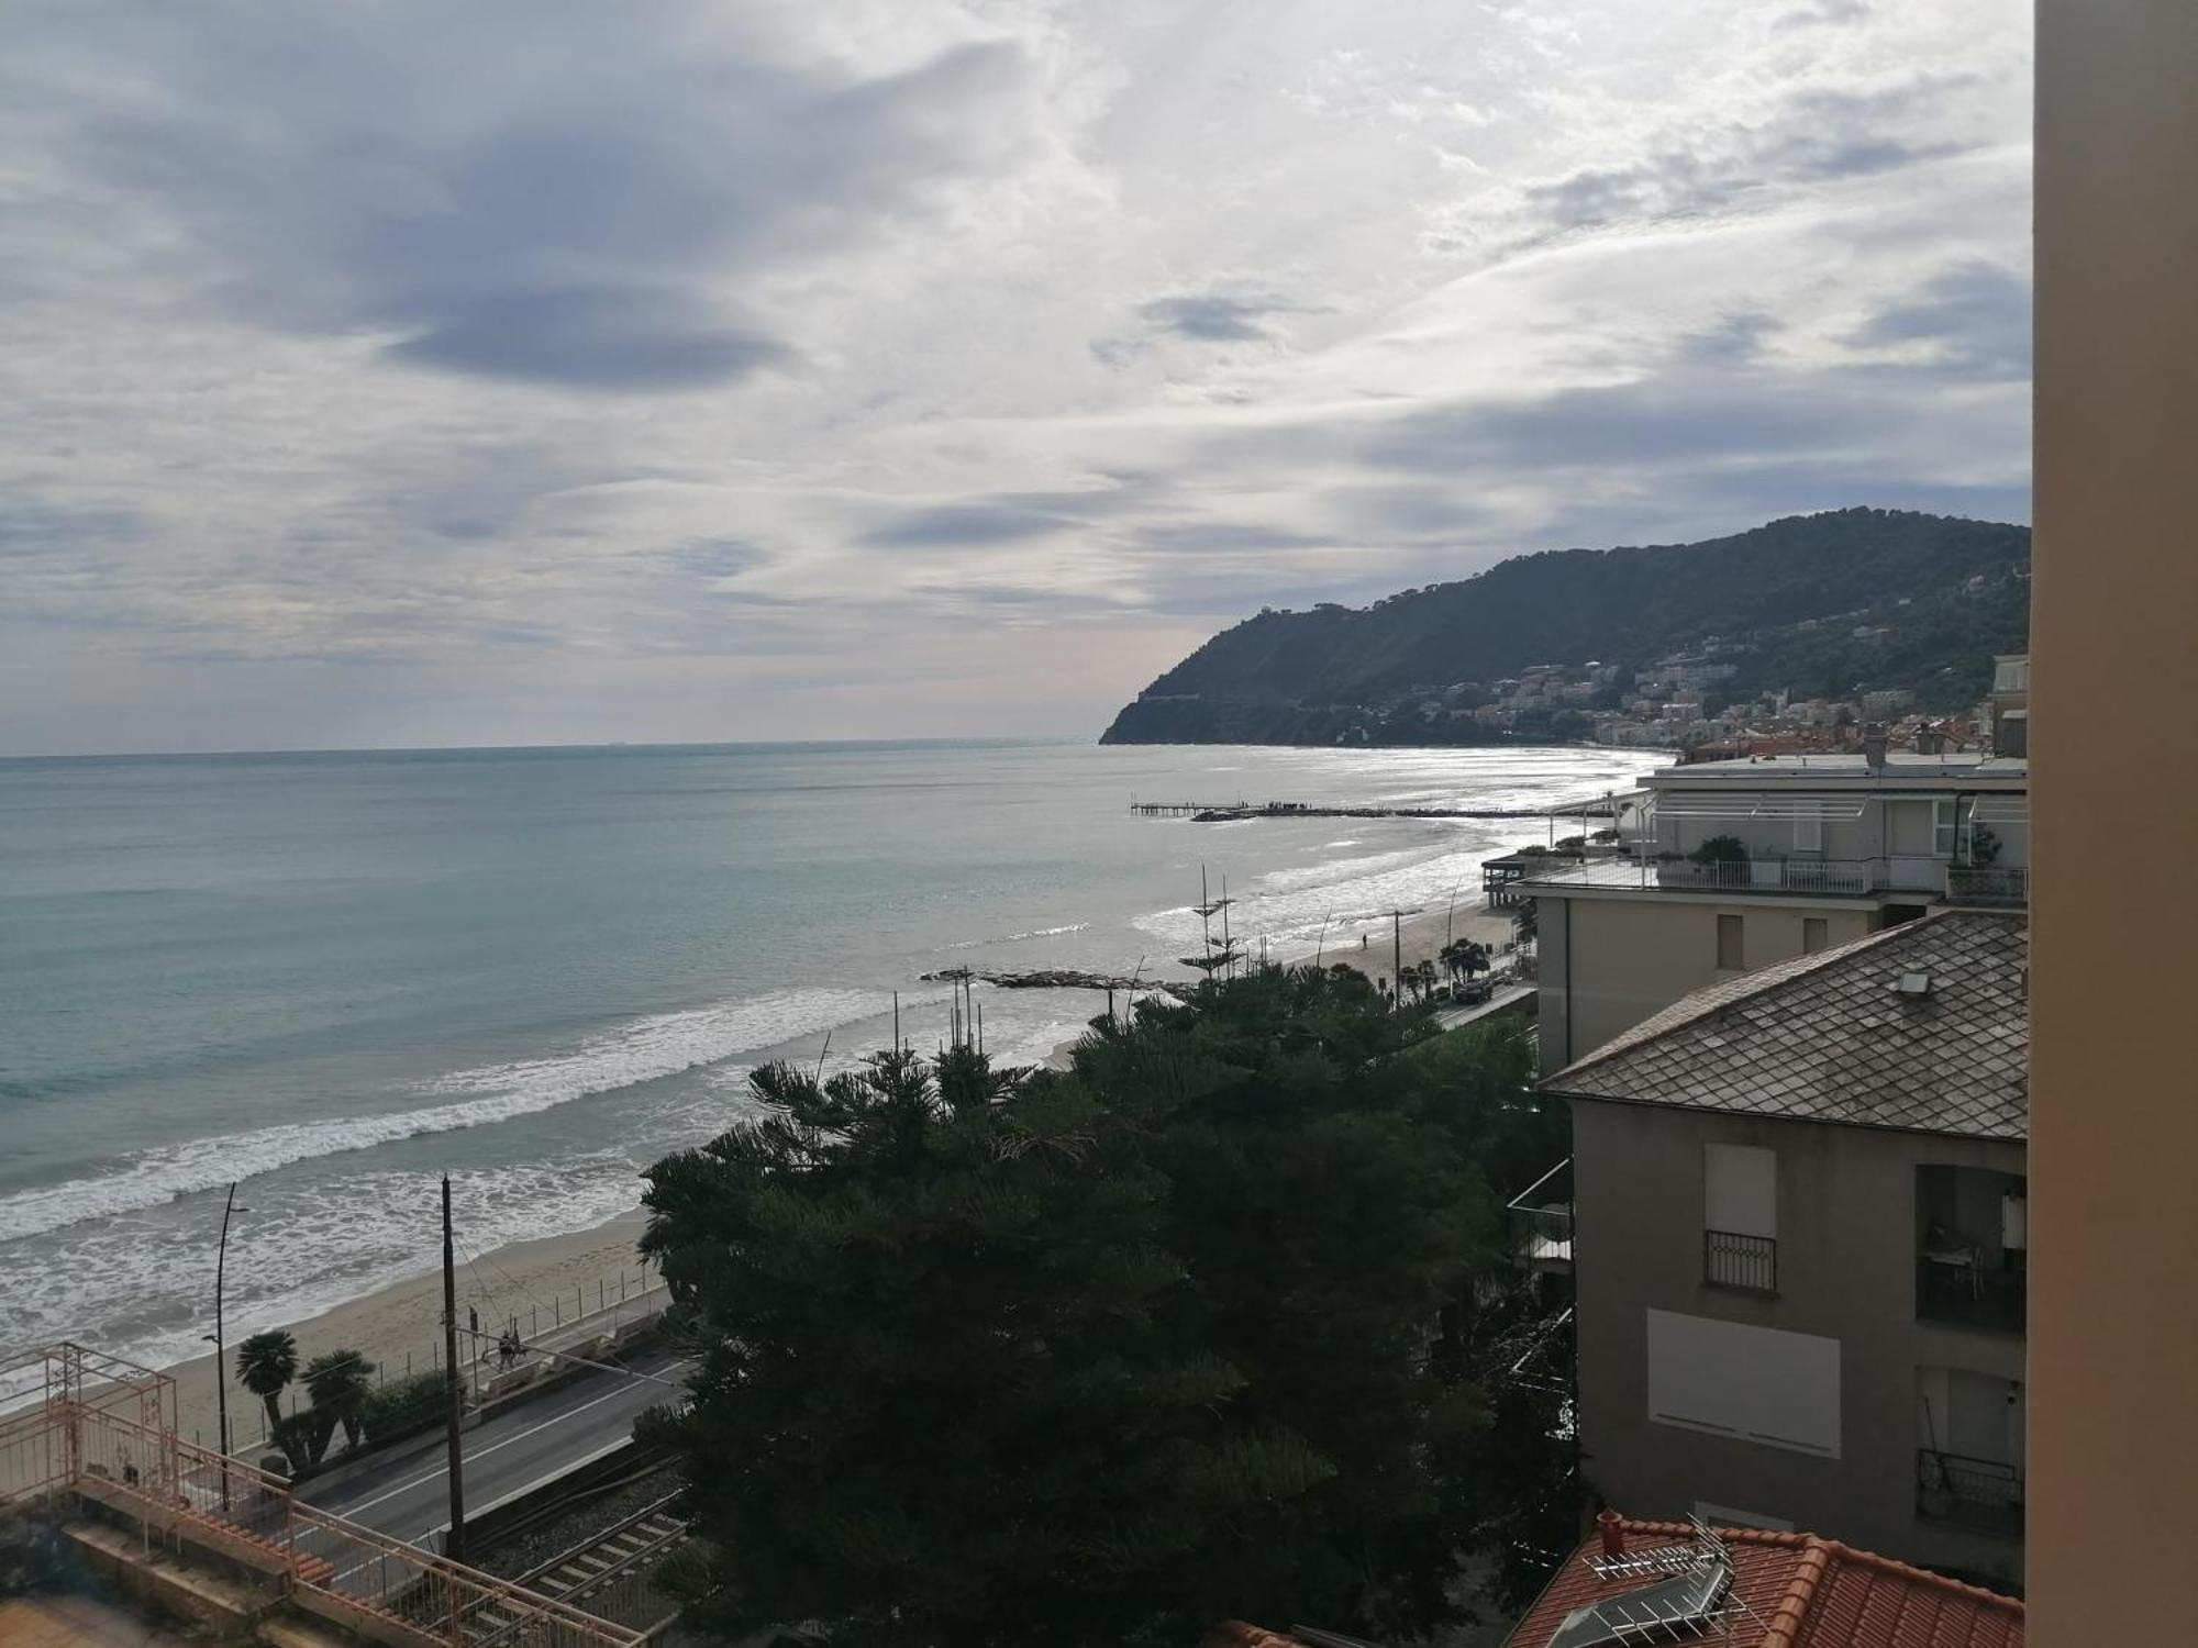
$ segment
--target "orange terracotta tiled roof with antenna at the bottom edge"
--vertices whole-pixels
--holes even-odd
[[[1690,1545],[1686,1523],[1622,1521],[1627,1556]],[[1890,1556],[1816,1534],[1719,1529],[1732,1554],[1730,1602],[1743,1604],[1699,1637],[1717,1648],[2022,1648],[2022,1604]],[[1589,1540],[1512,1626],[1508,1648],[1545,1648],[1574,1608],[1624,1595],[1655,1575],[1605,1580]]]

